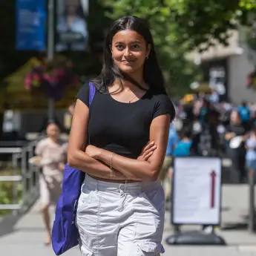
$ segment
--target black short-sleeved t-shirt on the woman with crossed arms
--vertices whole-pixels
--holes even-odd
[[[88,85],[82,86],[77,99],[89,105]],[[166,94],[149,89],[137,102],[124,103],[96,90],[88,124],[91,145],[136,159],[148,143],[152,120],[163,114],[170,114],[171,120],[175,116]]]

